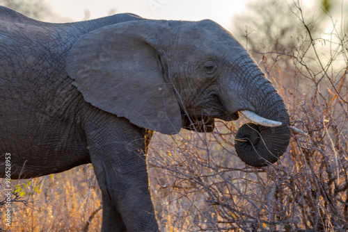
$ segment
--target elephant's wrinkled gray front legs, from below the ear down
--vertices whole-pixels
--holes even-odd
[[[159,231],[145,160],[148,135],[125,119],[115,120],[87,133],[103,194],[102,231]]]

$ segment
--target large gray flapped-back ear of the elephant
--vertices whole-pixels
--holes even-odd
[[[68,75],[93,106],[152,131],[178,133],[180,106],[156,36],[169,30],[165,21],[136,21],[87,33],[68,54]]]

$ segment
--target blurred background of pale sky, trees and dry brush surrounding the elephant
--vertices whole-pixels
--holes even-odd
[[[148,165],[161,231],[348,231],[347,0],[0,0],[45,22],[116,13],[149,19],[212,19],[251,53],[283,97],[293,135],[276,164],[235,154],[243,119],[213,133],[155,133]],[[0,181],[2,189],[3,181]],[[100,231],[92,165],[14,180],[12,227],[0,231]],[[3,199],[0,192],[0,211]]]

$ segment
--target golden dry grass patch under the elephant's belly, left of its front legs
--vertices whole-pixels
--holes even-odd
[[[22,195],[22,201],[11,204],[11,227],[1,219],[3,231],[86,231],[87,221],[95,211],[88,227],[89,231],[100,231],[101,193],[91,165],[11,184],[13,188],[17,186],[17,196]],[[4,189],[2,183],[0,188]],[[4,207],[1,209],[3,218]]]

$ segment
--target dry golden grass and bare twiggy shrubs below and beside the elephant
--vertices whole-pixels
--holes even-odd
[[[156,133],[148,163],[161,231],[348,231],[347,35],[336,24],[329,39],[314,35],[296,9],[304,34],[294,49],[254,55],[308,136],[294,135],[278,163],[256,169],[235,154],[242,122],[218,122],[210,134]],[[90,165],[13,181],[23,183],[28,203],[14,201],[13,227],[1,219],[1,229],[86,231],[95,214],[88,229],[100,231]]]

